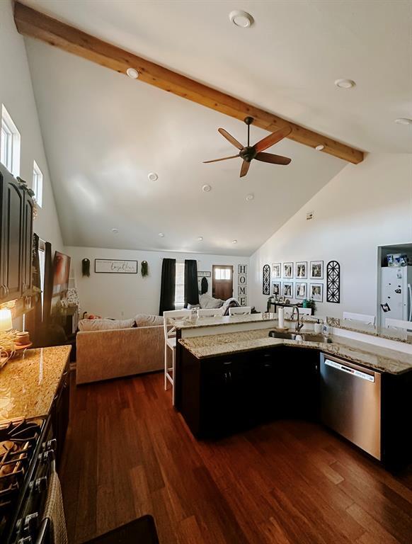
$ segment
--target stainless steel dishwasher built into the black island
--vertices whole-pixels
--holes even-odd
[[[321,421],[380,460],[380,373],[321,353]]]

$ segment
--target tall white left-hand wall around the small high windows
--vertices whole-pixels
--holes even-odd
[[[33,94],[23,37],[13,20],[11,1],[0,1],[0,106],[4,103],[21,134],[20,177],[33,183],[33,160],[43,179],[43,203],[34,222],[34,230],[53,249],[62,249],[62,234],[57,218],[55,198],[43,147],[38,112]]]

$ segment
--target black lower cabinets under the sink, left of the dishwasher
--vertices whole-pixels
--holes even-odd
[[[221,436],[263,421],[314,419],[319,352],[276,346],[199,360],[183,348],[179,406],[195,436]]]

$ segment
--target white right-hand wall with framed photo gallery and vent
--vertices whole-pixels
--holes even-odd
[[[314,219],[307,221],[309,211]],[[265,309],[265,263],[308,261],[309,266],[309,261],[323,260],[326,276],[326,263],[333,259],[341,263],[341,304],[318,303],[316,313],[376,314],[377,246],[408,242],[412,242],[412,154],[370,154],[361,164],[345,166],[251,256],[251,300],[257,309]]]

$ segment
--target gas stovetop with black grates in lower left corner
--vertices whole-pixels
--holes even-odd
[[[0,424],[0,541],[34,461],[44,423],[36,418]]]

